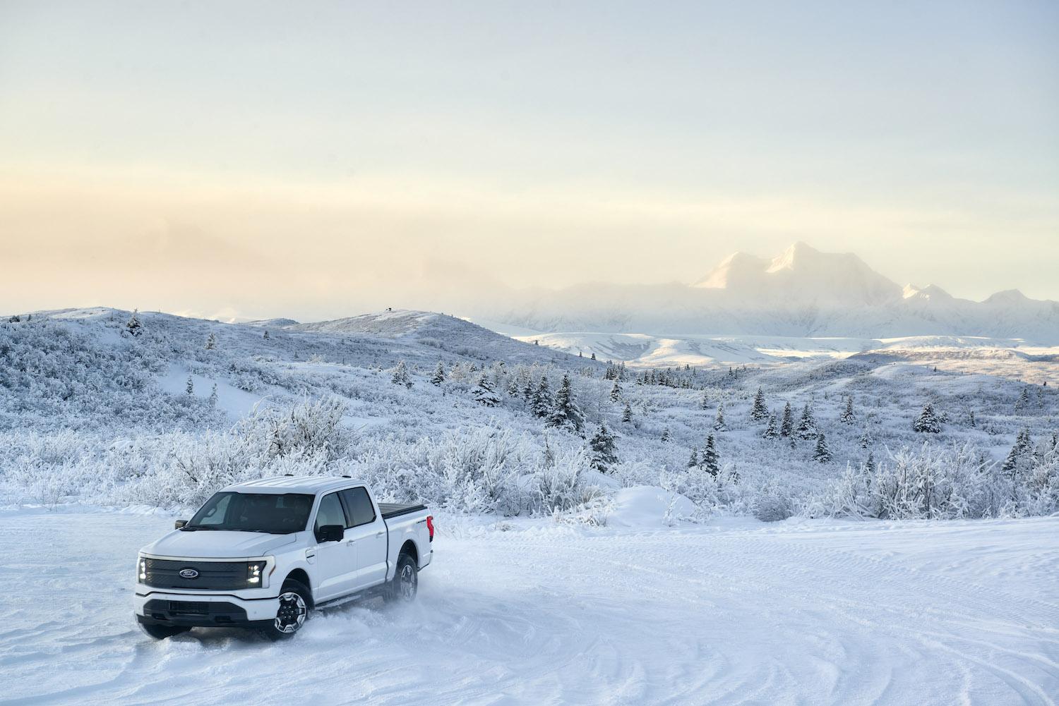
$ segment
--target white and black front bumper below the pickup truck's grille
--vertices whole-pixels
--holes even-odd
[[[143,589],[143,586],[138,586]],[[143,623],[190,628],[226,628],[269,622],[280,599],[246,599],[231,595],[195,595],[149,591],[137,593],[134,612]]]

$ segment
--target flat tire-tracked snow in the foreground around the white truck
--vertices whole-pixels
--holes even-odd
[[[633,506],[603,528],[443,518],[414,605],[279,644],[136,629],[136,550],[170,517],[0,511],[0,703],[1057,701],[1059,518],[652,527]]]

